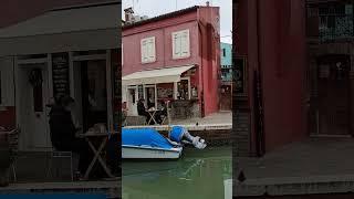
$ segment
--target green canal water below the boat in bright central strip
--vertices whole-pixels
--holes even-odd
[[[171,161],[124,161],[123,199],[225,199],[231,186],[231,147],[185,148]],[[228,193],[225,193],[228,192]]]

